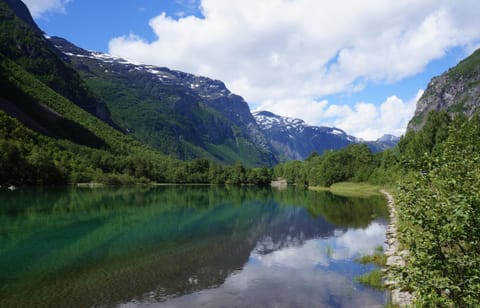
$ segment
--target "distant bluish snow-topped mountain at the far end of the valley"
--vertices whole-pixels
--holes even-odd
[[[303,160],[312,152],[322,154],[353,143],[365,143],[379,152],[394,147],[399,138],[385,135],[376,141],[364,141],[335,127],[312,126],[301,119],[276,115],[269,111],[255,112],[254,117],[282,161]]]

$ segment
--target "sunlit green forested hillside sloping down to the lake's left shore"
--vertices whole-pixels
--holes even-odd
[[[266,168],[223,167],[206,159],[182,162],[160,154],[71,103],[1,55],[0,68],[0,87],[11,105],[22,106],[24,114],[30,113],[38,125],[53,132],[51,137],[42,136],[0,113],[1,185],[91,181],[258,184],[270,180]]]

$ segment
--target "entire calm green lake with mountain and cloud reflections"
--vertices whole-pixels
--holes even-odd
[[[1,307],[381,307],[383,198],[221,187],[0,191]]]

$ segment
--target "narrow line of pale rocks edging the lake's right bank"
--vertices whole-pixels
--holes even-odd
[[[391,275],[391,269],[394,267],[404,267],[404,258],[409,252],[405,249],[400,250],[400,243],[397,237],[397,210],[395,209],[393,196],[383,189],[381,190],[381,193],[387,198],[387,206],[390,211],[390,223],[387,227],[387,239],[385,241],[387,244],[387,250],[385,251],[385,255],[387,256],[385,269],[387,279],[384,283],[391,291],[392,304],[399,307],[408,307],[412,304],[413,294],[408,291],[402,291],[398,281],[396,281],[393,275]]]

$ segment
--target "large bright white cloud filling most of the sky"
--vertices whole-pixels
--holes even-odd
[[[390,110],[411,114],[410,102],[391,97],[383,107],[334,107],[317,98],[415,75],[450,48],[472,48],[480,39],[476,0],[183,3],[200,6],[203,18],[163,13],[150,20],[156,40],[117,37],[110,53],[221,79],[255,106],[312,124],[326,124],[319,123],[322,112],[343,110],[353,122],[344,116],[334,123],[367,138],[378,129],[362,125],[391,120]],[[395,132],[388,123],[378,126]]]

